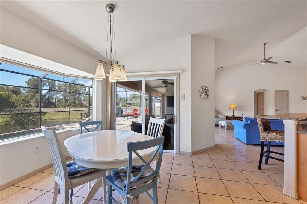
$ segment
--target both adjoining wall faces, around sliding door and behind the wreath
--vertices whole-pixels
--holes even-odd
[[[181,153],[214,145],[214,47],[213,37],[188,35],[119,59],[127,72],[183,70],[178,96],[179,109],[186,106],[185,111],[179,110]],[[208,100],[198,95],[201,85],[211,89]],[[185,100],[181,100],[181,94],[185,94]]]

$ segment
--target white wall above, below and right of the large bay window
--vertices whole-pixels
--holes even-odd
[[[3,7],[0,7],[0,26],[0,44],[87,73],[95,74],[98,59],[94,56],[52,35],[31,22],[26,21]],[[0,56],[5,54],[3,51],[3,49],[0,50]],[[18,59],[13,60],[18,61]],[[29,64],[37,66],[36,62],[30,62]],[[48,68],[52,69],[52,67]],[[94,110],[96,109],[97,111],[94,113],[94,116],[96,119],[104,120],[105,81],[98,81],[94,86],[97,88],[97,93],[95,93],[94,90]],[[63,143],[65,139],[79,134],[79,131],[80,130],[69,132],[59,131],[58,136]],[[36,145],[39,145],[39,153],[34,153],[34,146]],[[66,156],[68,156],[66,150],[65,153]],[[9,146],[1,145],[0,161],[0,185],[51,163],[45,138],[37,138]]]

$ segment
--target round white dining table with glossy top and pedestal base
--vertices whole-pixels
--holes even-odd
[[[128,142],[140,142],[153,139],[148,135],[128,130],[102,130],[77,134],[64,141],[66,150],[77,164],[89,168],[107,169],[107,175],[112,169],[124,167],[128,164]],[[156,147],[138,151],[138,153],[149,161]],[[133,153],[134,154],[134,153]],[[142,161],[134,154],[132,164]],[[89,202],[99,188],[104,185],[98,179],[89,189],[83,203]],[[106,199],[103,198],[104,202]]]

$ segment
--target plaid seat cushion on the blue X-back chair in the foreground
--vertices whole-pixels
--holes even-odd
[[[131,168],[131,181],[134,179],[134,177],[136,177],[142,171],[143,168],[147,168],[144,163],[132,165],[132,168]],[[112,176],[112,179],[113,179],[114,183],[118,187],[120,187],[122,189],[125,189],[125,187],[126,187],[127,171],[128,171],[127,167],[117,168],[117,169],[113,169],[111,171],[111,176]],[[138,180],[142,179],[142,178],[144,178],[146,176],[150,176],[152,174],[153,174],[153,172],[149,168],[147,168],[142,173],[142,175],[140,177],[138,177]],[[152,181],[153,181],[153,179],[151,179],[149,181],[146,181],[145,183],[141,183],[139,185],[130,187],[130,189],[134,189],[134,188],[137,188],[137,187],[140,187],[140,186],[144,186],[144,185],[146,185],[146,184],[148,184],[148,183],[150,183]]]

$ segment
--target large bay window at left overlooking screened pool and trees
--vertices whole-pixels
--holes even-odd
[[[0,140],[91,120],[92,104],[92,80],[0,62]]]

